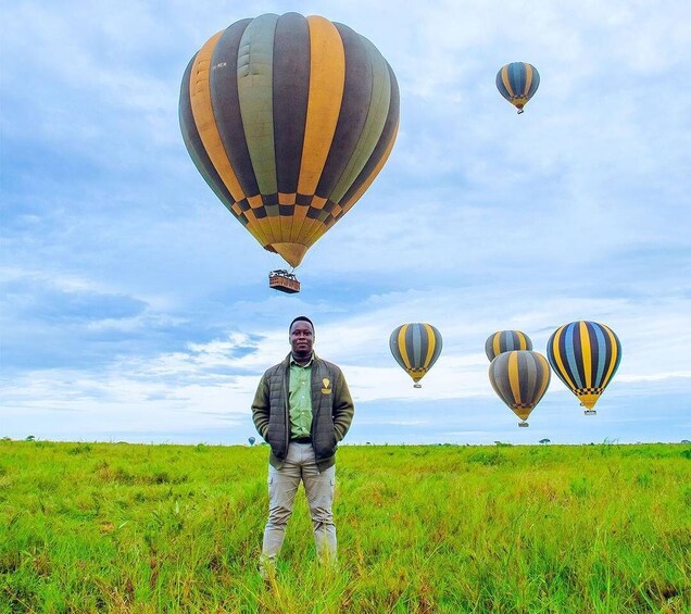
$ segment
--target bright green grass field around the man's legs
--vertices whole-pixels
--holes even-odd
[[[266,447],[0,442],[0,613],[691,612],[691,448],[339,450],[339,564]]]

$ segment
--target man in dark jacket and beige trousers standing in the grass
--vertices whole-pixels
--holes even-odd
[[[290,323],[288,340],[291,352],[262,376],[252,403],[256,430],[271,446],[262,559],[273,564],[280,551],[302,480],[317,555],[335,561],[336,448],[355,408],[341,369],[314,353],[314,325],[309,317],[301,315]]]

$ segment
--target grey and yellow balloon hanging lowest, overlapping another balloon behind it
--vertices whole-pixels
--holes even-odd
[[[503,352],[490,363],[489,378],[494,392],[520,418],[518,426],[528,426],[530,412],[550,385],[550,365],[538,352]]]

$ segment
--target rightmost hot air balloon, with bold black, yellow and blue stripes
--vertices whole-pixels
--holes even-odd
[[[554,373],[586,408],[586,415],[592,415],[621,362],[621,343],[604,324],[571,322],[560,326],[548,340],[548,359]]]

